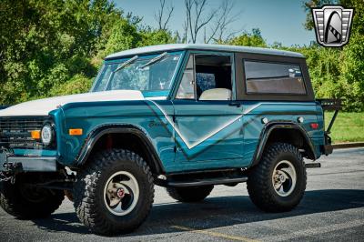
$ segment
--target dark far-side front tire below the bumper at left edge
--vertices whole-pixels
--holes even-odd
[[[25,192],[20,187],[24,186],[21,179],[17,179],[15,184],[3,182],[0,184],[0,206],[8,214],[21,218],[33,219],[49,217],[62,204],[65,194],[62,190],[49,190],[45,188],[35,188],[36,193],[32,199],[26,197]],[[31,193],[32,191],[27,191]]]

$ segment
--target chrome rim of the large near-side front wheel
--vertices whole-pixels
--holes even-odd
[[[116,216],[125,216],[136,207],[139,185],[136,177],[126,171],[116,172],[106,182],[104,200],[107,209]]]

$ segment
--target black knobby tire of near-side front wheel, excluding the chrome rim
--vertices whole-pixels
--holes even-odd
[[[135,176],[140,190],[136,207],[125,216],[112,214],[104,202],[106,181],[118,171]],[[147,218],[153,200],[154,182],[150,168],[141,156],[131,151],[102,151],[77,173],[74,187],[76,214],[93,233],[112,236],[133,231]]]

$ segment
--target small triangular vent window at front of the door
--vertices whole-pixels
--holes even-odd
[[[194,66],[194,55],[190,55],[177,91],[177,99],[195,99]]]

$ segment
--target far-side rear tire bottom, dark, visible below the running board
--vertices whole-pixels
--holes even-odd
[[[204,200],[210,195],[213,188],[213,185],[202,187],[167,187],[167,193],[179,202],[195,203]]]

